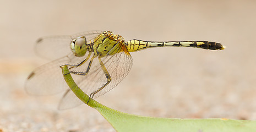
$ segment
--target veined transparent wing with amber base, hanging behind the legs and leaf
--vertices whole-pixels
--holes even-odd
[[[126,77],[132,68],[132,57],[130,56],[126,46],[120,44],[116,45],[115,48],[116,50],[114,50],[114,52],[116,52],[116,54],[113,56],[106,56],[101,58],[112,80],[106,87],[104,87],[104,89],[97,92],[97,94],[94,95],[94,98],[104,95],[106,92],[117,86]],[[74,72],[85,72],[88,67],[88,63],[70,70]],[[92,62],[88,75],[83,76],[72,74],[72,77],[80,89],[89,96],[92,92],[96,91],[107,82],[106,76],[101,69],[98,58],[95,58]],[[63,96],[62,101],[59,104],[59,109],[68,109],[81,105],[83,102],[78,100],[79,99],[74,95],[74,93],[69,91],[66,93],[66,95]]]

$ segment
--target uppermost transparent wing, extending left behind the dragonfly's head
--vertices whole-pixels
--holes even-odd
[[[46,36],[36,41],[35,52],[42,58],[55,60],[66,56],[70,51],[70,42],[78,36],[85,36],[88,42],[92,41],[103,31],[81,32],[75,35]]]

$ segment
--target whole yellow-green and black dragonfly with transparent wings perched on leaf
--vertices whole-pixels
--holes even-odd
[[[46,36],[36,41],[35,51],[51,62],[36,68],[28,76],[25,89],[32,95],[53,95],[64,92],[59,109],[81,105],[69,89],[61,69],[67,65],[75,83],[96,98],[117,86],[132,68],[130,52],[153,47],[195,47],[206,50],[224,50],[225,46],[209,41],[124,41],[111,31],[89,31],[75,35]]]

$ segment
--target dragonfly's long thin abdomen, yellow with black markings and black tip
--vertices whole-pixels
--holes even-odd
[[[143,41],[143,40],[130,40],[126,42],[129,52],[135,52],[144,50],[152,47],[164,47],[164,46],[175,46],[175,47],[195,47],[204,48],[206,50],[224,50],[225,46],[220,43],[209,42],[209,41],[167,41],[167,42],[154,42],[154,41]]]

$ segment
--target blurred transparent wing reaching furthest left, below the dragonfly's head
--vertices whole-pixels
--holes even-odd
[[[85,55],[88,56],[88,53]],[[32,95],[52,95],[69,89],[59,66],[81,62],[83,59],[85,58],[75,57],[73,53],[70,53],[68,56],[56,59],[55,61],[36,68],[26,80],[26,91]]]

